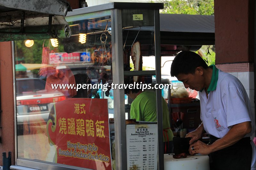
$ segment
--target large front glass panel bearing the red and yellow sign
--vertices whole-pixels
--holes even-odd
[[[14,42],[18,157],[112,169],[111,19],[69,25],[69,39]]]

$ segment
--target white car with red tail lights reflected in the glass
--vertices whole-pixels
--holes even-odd
[[[59,91],[44,90],[40,78],[16,78],[17,124],[47,122],[54,102],[65,100]]]

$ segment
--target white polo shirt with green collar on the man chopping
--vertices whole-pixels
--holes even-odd
[[[212,67],[213,74],[218,74],[217,77],[215,75],[215,80],[211,80],[216,89],[208,92],[208,99],[204,90],[199,92],[204,130],[210,135],[222,138],[233,125],[250,121],[252,131],[245,137],[252,136],[255,131],[255,118],[244,86],[235,76],[218,70],[215,65]]]

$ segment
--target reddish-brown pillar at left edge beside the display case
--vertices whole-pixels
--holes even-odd
[[[12,165],[15,160],[14,142],[14,99],[12,73],[12,43],[0,42],[0,90],[1,90],[1,129],[0,153],[12,152]],[[0,158],[0,165],[3,166]]]

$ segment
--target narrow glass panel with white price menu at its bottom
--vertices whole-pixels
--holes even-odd
[[[130,86],[125,90],[128,96],[125,108],[128,118],[133,119],[128,121],[135,121],[133,124],[126,124],[127,169],[138,167],[157,169],[158,132],[153,18],[153,10],[122,10],[124,82]],[[133,75],[130,76],[131,74]],[[164,99],[162,102],[165,102]],[[164,108],[167,109],[164,110],[164,114],[169,115],[166,102],[164,104]],[[165,122],[168,122],[168,115],[164,117]],[[170,123],[167,128],[170,128]]]

